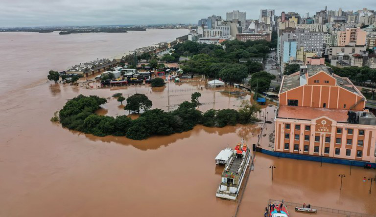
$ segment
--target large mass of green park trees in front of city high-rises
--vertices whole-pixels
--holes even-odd
[[[187,41],[175,45],[175,51],[171,56],[176,54],[182,56],[193,55],[182,67],[185,73],[202,74],[211,78],[220,77],[226,81],[234,82],[246,78],[248,69],[244,70],[244,68],[238,66],[237,69],[240,69],[240,73],[237,75],[235,69],[229,69],[235,66],[233,64],[237,64],[239,59],[254,57],[265,58],[272,46],[271,43],[266,40],[246,42],[232,40],[225,41],[224,45],[226,46],[226,50],[223,50],[222,46],[218,45],[199,44]],[[219,72],[226,68],[226,66],[227,69],[222,72],[222,78]],[[252,73],[263,69],[262,65],[258,63],[247,63],[247,66],[251,68],[250,71]]]

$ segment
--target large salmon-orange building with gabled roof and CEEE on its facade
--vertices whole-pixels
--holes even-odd
[[[376,117],[352,82],[322,62],[283,77],[274,151],[374,163]]]

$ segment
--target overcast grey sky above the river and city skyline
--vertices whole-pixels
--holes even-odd
[[[356,3],[354,3],[356,2]],[[376,10],[376,0],[0,0],[0,27],[107,24],[197,23],[232,10],[258,19],[260,9],[304,16],[328,10]]]

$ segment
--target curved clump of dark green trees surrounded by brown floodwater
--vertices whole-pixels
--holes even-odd
[[[144,112],[137,119],[132,120],[125,115],[116,118],[96,115],[95,111],[107,100],[97,96],[79,95],[69,100],[60,110],[60,123],[68,129],[95,136],[114,135],[141,140],[154,135],[182,133],[192,130],[197,124],[208,127],[224,127],[236,123],[247,124],[257,121],[255,113],[260,111],[259,105],[251,105],[248,101],[243,101],[238,111],[235,109],[211,109],[202,113],[196,109],[200,94],[194,93],[192,94],[192,101],[184,101],[178,109],[165,112],[162,109],[149,109],[151,101],[143,94],[138,95],[140,96],[137,96],[137,98],[144,101],[140,105]],[[134,102],[127,100],[128,103]],[[137,108],[127,108],[127,105],[124,109],[131,109],[136,112],[138,110]]]

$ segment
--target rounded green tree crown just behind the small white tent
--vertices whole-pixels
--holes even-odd
[[[228,82],[241,82],[247,78],[247,66],[243,64],[227,64],[219,71],[219,77]]]

